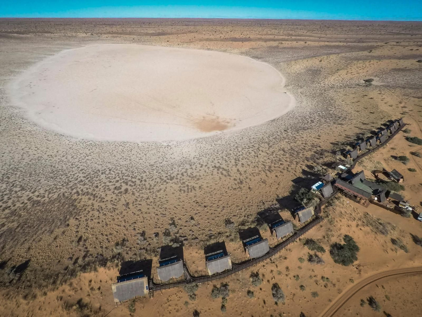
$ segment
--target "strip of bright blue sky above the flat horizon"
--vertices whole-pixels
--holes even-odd
[[[0,0],[0,17],[422,20],[421,0]]]

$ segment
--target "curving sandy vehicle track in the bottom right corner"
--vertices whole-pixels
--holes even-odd
[[[401,268],[398,270],[385,271],[385,272],[380,272],[380,273],[376,273],[374,275],[368,276],[362,281],[360,281],[359,283],[354,284],[351,288],[349,288],[343,294],[341,294],[338,298],[336,298],[335,301],[331,303],[331,305],[328,306],[324,310],[324,312],[322,312],[322,314],[320,314],[319,316],[320,317],[334,316],[335,313],[338,312],[338,310],[341,309],[341,307],[343,307],[343,305],[347,303],[347,301],[349,301],[349,299],[352,298],[354,294],[356,294],[358,291],[362,290],[362,288],[364,288],[365,286],[375,281],[384,279],[385,277],[389,277],[389,276],[411,274],[411,273],[422,273],[422,267]]]

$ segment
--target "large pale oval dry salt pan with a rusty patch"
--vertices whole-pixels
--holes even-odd
[[[54,131],[95,140],[165,141],[255,126],[292,98],[272,66],[199,49],[90,45],[35,64],[12,85],[15,105]]]

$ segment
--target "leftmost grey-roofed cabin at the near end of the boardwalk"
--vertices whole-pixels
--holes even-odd
[[[111,284],[114,302],[120,303],[148,294],[148,278],[142,271],[117,277],[117,283]]]

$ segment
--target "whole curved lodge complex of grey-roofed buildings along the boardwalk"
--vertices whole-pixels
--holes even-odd
[[[353,160],[358,158],[358,156],[362,155],[362,151],[376,148],[378,145],[383,144],[389,136],[403,126],[403,119],[398,119],[389,124],[387,128],[379,128],[376,135],[354,143],[352,150],[347,150],[343,153],[345,158],[352,158]],[[335,192],[342,191],[346,196],[362,204],[377,202],[385,205],[387,208],[410,207],[400,194],[384,189],[378,183],[367,180],[363,171],[354,174],[350,166],[346,164],[337,164],[335,168],[338,172],[337,175],[333,177],[334,174],[327,174],[311,187],[311,192],[315,196],[327,199],[332,197]],[[391,172],[382,170],[374,171],[373,173],[376,177],[382,174],[391,181],[403,181],[403,175],[395,169]],[[301,223],[305,223],[310,221],[314,216],[314,208],[300,206],[292,210],[292,213],[294,216],[298,215]],[[275,219],[267,222],[271,234],[277,239],[284,239],[293,235],[294,228],[292,221],[284,221],[279,213],[276,213],[276,215],[278,216]],[[260,258],[270,251],[268,239],[263,239],[256,227],[242,230],[242,232],[239,232],[239,236],[241,237],[243,249],[246,253],[245,261]],[[208,276],[233,269],[232,259],[227,252],[224,242],[216,242],[206,246],[204,248],[204,255],[206,274]],[[158,263],[157,275],[159,281],[157,283],[159,284],[177,281],[186,282],[198,277],[192,276],[189,272],[183,257],[183,246],[163,246]],[[149,272],[151,272],[150,269]],[[148,294],[151,296],[152,285],[150,274],[143,273],[142,270],[120,275],[117,277],[117,282],[111,286],[114,301],[119,303]]]

